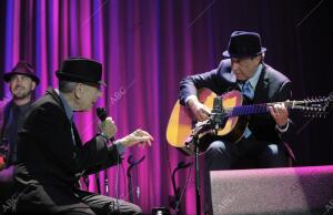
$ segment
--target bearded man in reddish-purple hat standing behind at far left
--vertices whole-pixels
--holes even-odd
[[[18,131],[22,127],[23,119],[32,103],[33,91],[39,83],[32,65],[26,61],[19,61],[12,71],[3,75],[9,83],[12,94],[11,101],[6,105],[3,124],[0,125],[2,144],[8,144],[6,166],[17,161]]]

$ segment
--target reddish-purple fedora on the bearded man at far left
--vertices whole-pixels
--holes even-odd
[[[22,74],[30,76],[36,84],[39,84],[39,78],[34,74],[33,66],[27,61],[19,61],[17,65],[8,73],[3,74],[3,80],[6,82],[10,81],[10,78],[14,74]]]

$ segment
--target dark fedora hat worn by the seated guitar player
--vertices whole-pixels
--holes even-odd
[[[234,31],[230,37],[228,50],[222,55],[226,58],[244,58],[254,57],[265,51],[266,49],[261,47],[261,39],[258,33]]]

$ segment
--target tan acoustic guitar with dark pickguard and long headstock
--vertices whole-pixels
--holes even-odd
[[[284,103],[287,110],[300,110],[305,116],[322,117],[327,113],[333,101],[333,93],[324,98],[306,99],[302,101],[284,101],[263,104],[243,105],[244,99],[239,91],[230,91],[216,96],[209,89],[201,89],[198,93],[201,103],[212,110],[212,115],[203,122],[195,122],[191,111],[180,104],[178,100],[171,112],[167,127],[167,140],[170,145],[179,149],[185,155],[194,155],[194,134],[199,139],[200,153],[210,145],[209,139],[218,135],[224,140],[238,143],[242,140],[248,126],[248,117],[253,114],[269,113],[270,106]],[[200,133],[199,135],[196,135]]]

